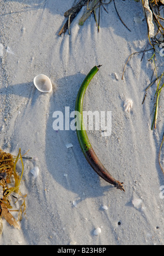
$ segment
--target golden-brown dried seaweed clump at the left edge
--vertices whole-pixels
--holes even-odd
[[[20,176],[16,172],[16,164],[19,160],[22,165]],[[22,195],[20,192],[20,183],[23,173],[24,163],[22,161],[21,149],[19,149],[17,156],[5,153],[0,149],[0,235],[2,234],[3,229],[2,217],[4,217],[10,225],[20,229],[19,223],[10,212],[18,212],[19,220],[22,219],[22,214],[25,213],[25,199],[27,195]],[[19,199],[22,200],[19,209],[13,210],[14,204]]]

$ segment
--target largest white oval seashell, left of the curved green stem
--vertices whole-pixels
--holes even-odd
[[[41,92],[51,92],[52,91],[52,83],[49,77],[44,74],[39,74],[37,77],[33,79],[33,83],[36,88]]]

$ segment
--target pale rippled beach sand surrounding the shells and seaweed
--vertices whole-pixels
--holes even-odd
[[[58,36],[63,14],[73,0],[1,0],[0,2],[0,148],[24,160],[21,191],[27,194],[21,230],[3,219],[0,245],[163,245],[164,176],[158,155],[163,136],[163,92],[157,129],[151,131],[155,86],[152,52],[145,49],[147,22],[140,3],[115,1],[101,9],[100,31],[91,16],[84,26],[71,24],[71,35]],[[135,22],[134,17],[143,21]],[[159,57],[158,70],[164,65]],[[112,111],[112,134],[88,131],[93,148],[109,172],[124,182],[125,193],[101,179],[81,152],[75,131],[54,131],[52,114],[72,112],[79,87],[95,65],[102,65],[84,98],[84,110]],[[53,91],[39,92],[33,78],[45,74]],[[125,112],[130,98],[133,108]],[[151,100],[152,99],[152,100]],[[72,143],[73,147],[66,145]],[[164,160],[164,149],[161,162]],[[35,179],[31,170],[39,167]],[[136,201],[138,200],[138,201]],[[137,205],[136,202],[139,202]],[[105,209],[102,206],[106,206]],[[120,225],[118,223],[120,222]],[[96,228],[101,234],[94,235]]]

